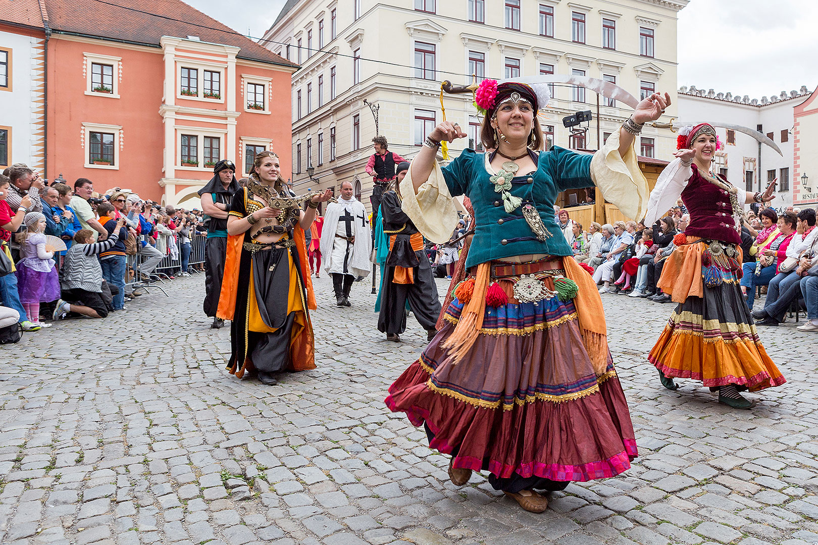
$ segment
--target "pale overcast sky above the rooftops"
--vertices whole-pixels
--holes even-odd
[[[241,34],[261,37],[285,0],[187,0]],[[262,7],[264,6],[264,7]],[[760,99],[818,86],[818,2],[690,0],[679,12],[679,85]]]

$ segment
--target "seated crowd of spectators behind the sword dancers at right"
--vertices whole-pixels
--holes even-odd
[[[555,212],[574,257],[593,275],[600,293],[671,302],[657,288],[674,239],[684,232],[690,216],[680,202],[652,226],[617,221],[587,230],[570,219],[568,210]],[[766,293],[762,310],[754,310],[757,325],[778,325],[794,310],[807,311],[801,331],[818,331],[818,230],[816,211],[773,208],[749,210],[742,218],[741,289],[750,310]]]

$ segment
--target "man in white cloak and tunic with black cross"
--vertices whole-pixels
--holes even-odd
[[[353,196],[353,185],[341,184],[341,198],[326,207],[321,231],[321,262],[332,276],[338,306],[352,306],[349,290],[370,271],[372,237],[366,208]]]

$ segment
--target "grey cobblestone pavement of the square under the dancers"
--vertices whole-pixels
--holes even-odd
[[[278,386],[227,375],[202,285],[0,347],[0,543],[818,543],[818,336],[792,320],[762,329],[789,382],[734,411],[659,386],[645,355],[670,305],[604,296],[640,457],[535,515],[483,476],[452,485],[384,408],[425,332],[410,317],[386,342],[366,281],[339,309],[317,280],[318,368]]]

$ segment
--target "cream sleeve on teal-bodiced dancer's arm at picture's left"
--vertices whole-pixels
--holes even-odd
[[[417,194],[409,168],[407,176],[401,182],[401,197],[403,212],[427,239],[439,244],[452,237],[457,226],[457,208],[437,161],[434,162],[429,180],[420,185]]]

